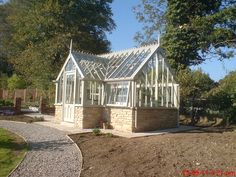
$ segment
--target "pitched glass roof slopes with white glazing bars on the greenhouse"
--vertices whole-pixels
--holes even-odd
[[[72,52],[85,78],[99,80],[132,79],[157,50],[158,44],[102,55]]]

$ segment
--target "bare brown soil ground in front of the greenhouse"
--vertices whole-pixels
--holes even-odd
[[[70,137],[83,154],[82,177],[236,176],[236,132],[224,131],[132,139],[91,133]]]

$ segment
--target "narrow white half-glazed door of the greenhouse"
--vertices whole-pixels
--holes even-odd
[[[75,74],[67,73],[65,82],[64,121],[74,122]]]

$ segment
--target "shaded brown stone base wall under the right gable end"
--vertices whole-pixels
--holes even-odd
[[[178,110],[174,108],[136,108],[134,132],[175,128],[178,126]]]

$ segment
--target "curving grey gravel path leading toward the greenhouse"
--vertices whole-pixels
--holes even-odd
[[[29,151],[11,177],[78,177],[81,154],[62,131],[37,124],[0,121],[0,127],[22,135]]]

